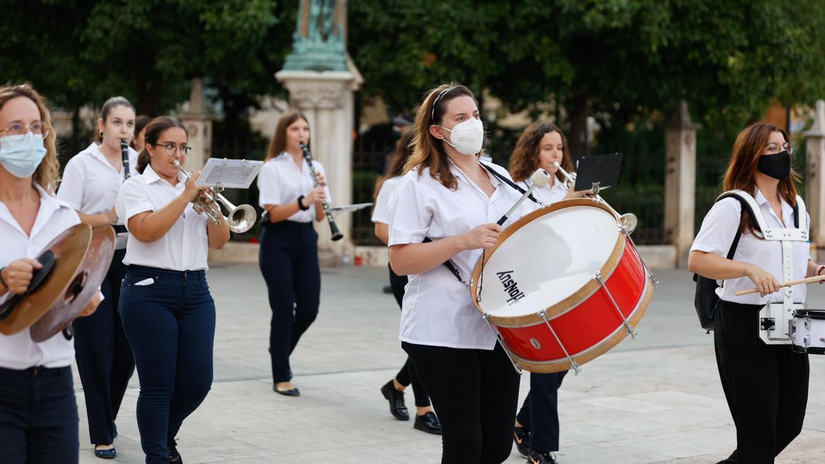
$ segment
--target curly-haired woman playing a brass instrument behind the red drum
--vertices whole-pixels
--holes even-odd
[[[550,182],[533,190],[533,195],[549,205],[568,198],[587,196],[589,191],[574,192],[554,163],[573,173],[573,159],[562,131],[549,122],[534,122],[521,133],[510,157],[510,175],[516,182],[530,187],[530,174],[542,168]],[[554,464],[559,451],[559,387],[564,372],[530,373],[530,392],[516,415],[516,448],[532,464]]]

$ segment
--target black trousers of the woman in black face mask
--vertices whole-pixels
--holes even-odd
[[[737,462],[774,462],[799,435],[808,404],[808,355],[759,339],[760,305],[719,301],[714,347],[736,424]]]

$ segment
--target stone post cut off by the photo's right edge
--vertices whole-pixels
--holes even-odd
[[[814,259],[818,249],[825,247],[825,100],[817,101],[813,126],[803,133],[807,145],[805,153],[805,206],[811,215],[811,254]],[[816,254],[814,254],[816,253]]]

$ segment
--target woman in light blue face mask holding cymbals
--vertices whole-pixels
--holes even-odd
[[[34,258],[80,223],[54,197],[59,164],[51,116],[26,85],[0,88],[0,303],[26,291],[42,265]],[[95,297],[81,316],[94,312]],[[0,462],[78,462],[73,342],[55,334],[35,343],[29,329],[0,334]]]

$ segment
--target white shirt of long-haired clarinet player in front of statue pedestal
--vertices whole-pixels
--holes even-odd
[[[313,168],[327,177],[323,170],[323,165],[313,160]],[[258,204],[266,209],[266,205],[286,205],[298,201],[301,195],[307,196],[312,192],[315,184],[313,173],[305,159],[301,159],[301,165],[295,164],[292,155],[286,152],[281,153],[273,159],[263,164],[261,173],[258,173]],[[327,203],[332,205],[332,196],[329,195],[329,187],[324,187],[327,194]],[[315,205],[310,206],[307,211],[298,211],[294,215],[286,218],[295,222],[312,222],[315,220]]]

